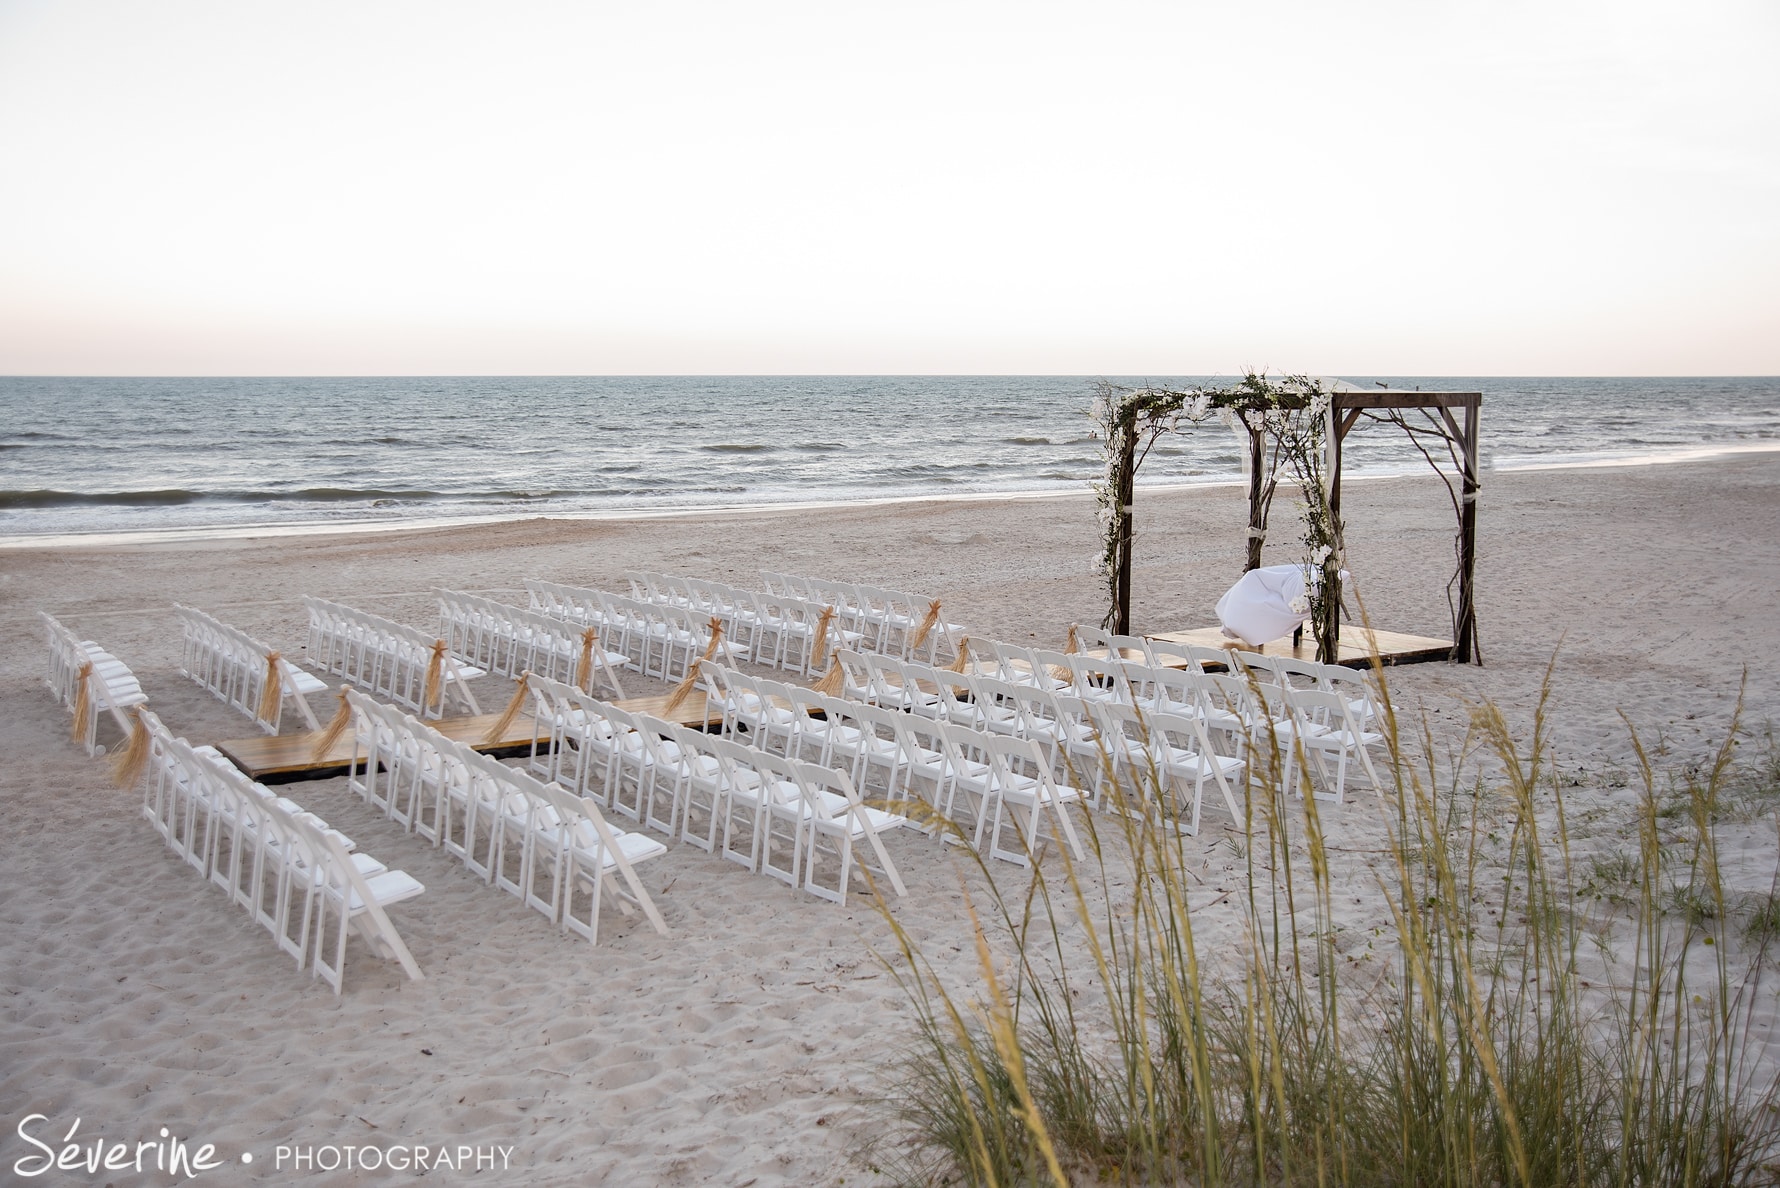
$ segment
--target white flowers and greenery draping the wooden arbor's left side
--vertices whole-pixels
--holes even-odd
[[[1107,588],[1102,625],[1130,632],[1130,559],[1136,543],[1134,499],[1137,467],[1164,433],[1178,433],[1216,417],[1246,436],[1250,468],[1248,565],[1260,565],[1267,517],[1280,472],[1296,483],[1303,509],[1303,566],[1307,606],[1317,655],[1335,659],[1340,572],[1346,565],[1344,525],[1333,515],[1328,481],[1330,392],[1319,379],[1269,379],[1248,372],[1228,388],[1121,388],[1100,381],[1088,410],[1093,436],[1107,456],[1107,474],[1093,484],[1100,504],[1102,552],[1095,572]],[[1317,581],[1317,577],[1323,581]]]

